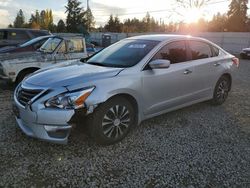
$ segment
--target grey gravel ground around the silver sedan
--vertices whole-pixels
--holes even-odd
[[[250,187],[250,61],[225,104],[200,103],[98,146],[82,131],[68,145],[25,136],[0,84],[0,187]]]

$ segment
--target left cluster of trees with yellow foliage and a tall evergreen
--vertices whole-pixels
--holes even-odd
[[[51,9],[36,10],[34,14],[31,14],[28,22],[26,22],[23,10],[20,9],[13,24],[10,24],[9,27],[46,29],[58,33],[69,32],[83,34],[88,34],[89,31],[94,29],[95,21],[92,11],[89,8],[84,10],[80,1],[68,0],[65,9],[65,13],[67,14],[66,22],[60,19],[57,24],[54,24]]]

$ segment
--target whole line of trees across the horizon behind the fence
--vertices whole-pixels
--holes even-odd
[[[204,6],[204,2],[210,0],[176,0],[183,6]],[[184,22],[164,23],[152,17],[149,13],[143,19],[132,18],[120,21],[118,16],[110,15],[104,27],[95,28],[95,20],[90,8],[84,10],[79,0],[68,0],[65,6],[67,14],[66,22],[59,20],[54,24],[52,10],[36,10],[28,22],[22,10],[19,10],[9,27],[26,27],[35,29],[48,29],[51,32],[72,32],[88,33],[89,31],[102,32],[190,32],[190,31],[209,31],[209,32],[247,32],[250,31],[250,18],[247,16],[248,0],[231,0],[229,10],[225,14],[217,13],[211,21],[201,18],[196,23],[186,24]],[[190,7],[189,7],[190,8]]]

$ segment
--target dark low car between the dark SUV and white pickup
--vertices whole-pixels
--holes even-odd
[[[0,53],[18,53],[18,52],[32,52],[37,51],[43,43],[45,43],[51,35],[41,36],[31,39],[23,44],[17,46],[6,46],[0,48]]]

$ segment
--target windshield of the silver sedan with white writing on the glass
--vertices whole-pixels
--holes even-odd
[[[139,63],[159,41],[127,39],[103,49],[87,63],[107,67],[132,67]]]

